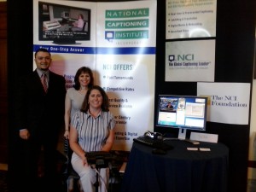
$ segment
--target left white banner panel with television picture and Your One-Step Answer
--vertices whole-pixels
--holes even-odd
[[[82,15],[82,16],[80,16]],[[74,30],[83,18],[84,29]],[[71,1],[33,1],[33,49],[48,49],[52,54],[50,69],[72,87],[79,67],[96,66],[96,4]],[[36,68],[34,63],[33,68]]]

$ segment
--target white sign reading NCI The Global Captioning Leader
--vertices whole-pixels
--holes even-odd
[[[215,40],[166,42],[166,81],[214,82]]]

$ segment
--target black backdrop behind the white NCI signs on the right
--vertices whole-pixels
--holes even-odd
[[[254,0],[217,1],[215,82],[253,82],[255,9]],[[165,82],[163,10],[165,1],[158,1],[155,98],[160,94],[196,95],[196,83]],[[162,130],[158,128],[157,131]],[[250,125],[207,122],[207,132],[218,134],[218,141],[230,148],[228,191],[247,191]],[[177,131],[172,133],[177,134]]]

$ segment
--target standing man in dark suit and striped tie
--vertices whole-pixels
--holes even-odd
[[[64,123],[65,79],[49,71],[52,59],[47,49],[38,49],[34,61],[37,69],[20,79],[16,101],[16,125],[23,154],[23,165],[20,165],[24,168],[20,179],[22,191],[38,191],[34,185],[37,183],[39,156],[44,148],[45,184],[51,191],[56,183],[59,131]]]

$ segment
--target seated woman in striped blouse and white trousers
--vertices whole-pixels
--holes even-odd
[[[70,125],[72,166],[78,172],[84,192],[95,191],[96,170],[88,165],[86,152],[107,151],[113,146],[115,121],[108,109],[106,92],[92,86],[84,97],[82,108],[73,115]],[[108,191],[108,168],[99,169],[99,192]]]

